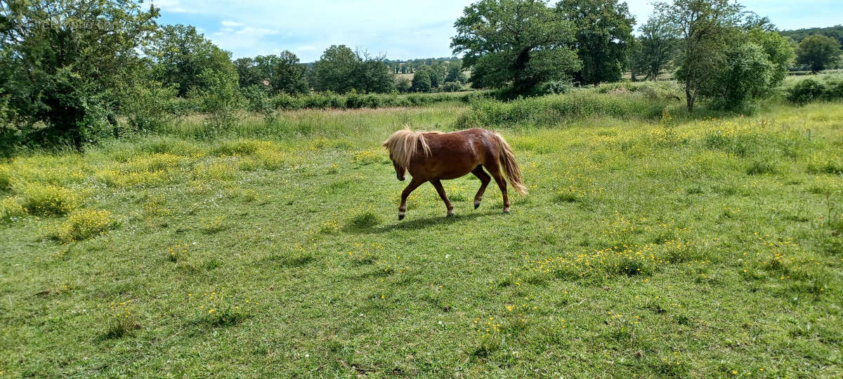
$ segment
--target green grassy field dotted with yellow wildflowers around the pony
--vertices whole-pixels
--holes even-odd
[[[466,111],[3,163],[0,376],[840,377],[843,104],[502,129],[512,214],[466,177],[398,222],[379,142]]]

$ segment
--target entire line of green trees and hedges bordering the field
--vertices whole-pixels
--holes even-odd
[[[796,45],[728,0],[656,3],[637,36],[618,0],[480,0],[454,23],[461,59],[389,61],[331,45],[313,64],[290,51],[233,61],[194,27],[158,25],[158,16],[139,0],[0,0],[0,140],[79,148],[150,129],[174,107],[227,125],[244,104],[270,115],[268,99],[281,94],[454,91],[470,82],[520,96],[624,72],[652,80],[672,72],[689,109],[700,96],[738,108],[770,93],[794,61],[819,71],[840,56],[834,38]],[[412,80],[396,79],[400,67]]]

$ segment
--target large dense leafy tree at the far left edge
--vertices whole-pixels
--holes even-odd
[[[5,124],[81,148],[113,123],[155,29],[158,9],[126,0],[0,1]]]

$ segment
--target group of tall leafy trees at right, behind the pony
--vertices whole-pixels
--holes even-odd
[[[715,108],[740,109],[771,93],[794,61],[818,72],[840,56],[834,38],[813,35],[797,45],[735,1],[654,6],[634,36],[636,20],[618,0],[481,0],[454,24],[451,47],[464,54],[474,87],[521,96],[559,81],[615,82],[625,71],[656,80],[672,72],[691,110],[701,96]]]

